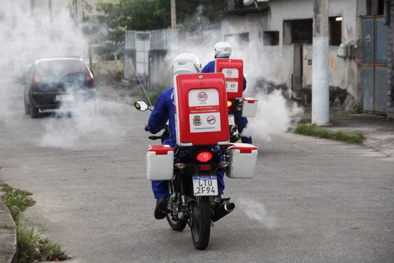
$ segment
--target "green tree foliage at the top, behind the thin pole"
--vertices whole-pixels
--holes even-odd
[[[225,0],[177,0],[177,22],[187,28],[206,22],[211,13],[223,10]],[[129,30],[154,30],[168,28],[171,25],[171,6],[169,0],[120,0],[119,3],[107,3],[100,0],[97,10],[102,12],[100,20],[108,26],[108,40],[120,43],[124,41],[124,32]],[[182,26],[181,26],[182,27]]]

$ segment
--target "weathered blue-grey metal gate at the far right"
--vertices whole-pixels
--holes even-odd
[[[383,17],[362,18],[362,103],[363,109],[387,110],[387,36]]]

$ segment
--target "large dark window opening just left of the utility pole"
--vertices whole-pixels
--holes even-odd
[[[283,44],[311,44],[313,38],[313,19],[283,21]]]

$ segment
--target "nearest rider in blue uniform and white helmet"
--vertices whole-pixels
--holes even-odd
[[[188,63],[185,63],[187,61]],[[179,62],[179,63],[178,63]],[[201,72],[201,64],[197,56],[189,53],[180,54],[175,58],[172,66],[173,75],[179,74],[193,74]],[[170,87],[164,90],[159,98],[156,100],[155,108],[152,111],[148,124],[145,127],[146,131],[152,134],[160,132],[165,123],[168,121],[170,136],[163,142],[164,145],[175,147],[176,133],[175,133],[175,113],[174,113],[174,88]],[[224,171],[218,170],[218,188],[219,194],[223,194],[224,190]],[[155,218],[163,219],[166,215],[167,196],[168,196],[168,181],[152,181],[152,190],[156,201]]]

